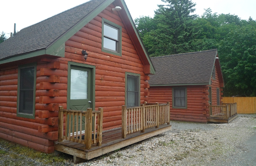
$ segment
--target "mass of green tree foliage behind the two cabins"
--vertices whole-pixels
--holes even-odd
[[[225,96],[256,96],[256,21],[237,15],[193,15],[191,0],[162,0],[155,16],[135,19],[149,55],[218,49]]]

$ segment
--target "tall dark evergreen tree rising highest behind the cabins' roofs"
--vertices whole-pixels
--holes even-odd
[[[155,16],[150,20],[154,25],[149,32],[143,32],[143,42],[150,56],[161,56],[189,52],[196,33],[192,15],[196,5],[191,0],[162,0]],[[142,19],[142,18],[140,18]],[[140,27],[140,24],[137,24]],[[142,31],[141,31],[142,32]]]

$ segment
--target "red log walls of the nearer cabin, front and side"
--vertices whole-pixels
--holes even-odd
[[[52,153],[58,139],[58,107],[67,109],[68,62],[96,66],[95,109],[103,107],[103,130],[121,127],[125,72],[140,74],[140,102],[148,101],[148,74],[122,19],[111,4],[65,42],[65,57],[31,58],[0,67],[0,138]],[[122,26],[122,56],[101,51],[102,18]],[[85,62],[82,50],[86,49]],[[37,62],[35,119],[16,116],[18,66]]]

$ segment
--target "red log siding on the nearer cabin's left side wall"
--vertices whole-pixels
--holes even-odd
[[[37,60],[36,70],[36,103],[35,103],[35,119],[17,117],[17,88],[18,88],[18,66],[19,64],[27,64],[36,62],[35,60],[20,61],[19,63],[10,65],[12,67],[0,68],[0,137],[30,148],[45,152],[52,153],[54,151],[54,140],[58,139],[58,110],[59,104],[40,104],[39,98],[44,96],[51,96],[52,90],[41,90],[40,84],[49,83],[51,79],[48,76],[42,76],[40,70],[42,68],[48,69],[49,62]],[[65,65],[67,68],[67,65]],[[62,66],[63,68],[63,66]],[[65,68],[65,67],[64,67]],[[64,69],[63,68],[63,69]],[[64,70],[60,71],[64,71]],[[52,69],[49,69],[52,70]],[[67,84],[66,78],[61,78],[61,87]],[[60,83],[50,83],[51,88],[56,89],[56,85]],[[64,86],[65,87],[65,86]],[[67,88],[60,90],[60,96],[66,94]],[[66,95],[65,95],[66,96]],[[54,101],[54,97],[52,97]],[[57,100],[58,101],[58,100]],[[61,101],[66,105],[66,99]],[[45,115],[45,111],[51,112]],[[55,112],[55,113],[54,113]],[[49,128],[54,128],[51,132],[40,133],[38,129],[42,125],[48,125]]]

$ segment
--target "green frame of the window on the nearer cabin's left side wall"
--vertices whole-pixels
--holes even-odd
[[[34,88],[33,88],[33,113],[23,113],[19,112],[20,111],[20,79],[21,79],[21,70],[34,67]],[[30,63],[30,64],[24,64],[24,65],[19,65],[18,67],[18,89],[17,89],[17,117],[25,117],[25,118],[31,118],[35,119],[35,105],[36,105],[36,62],[35,63]]]

